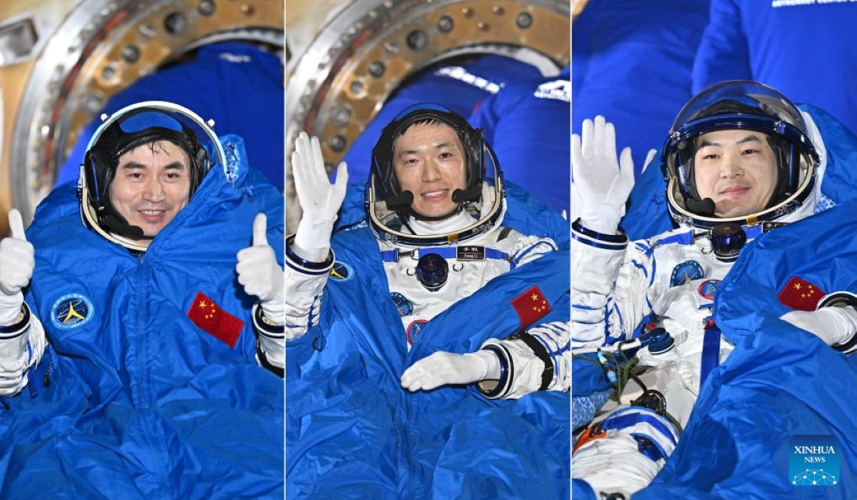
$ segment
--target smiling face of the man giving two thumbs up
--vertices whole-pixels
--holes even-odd
[[[129,225],[153,238],[188,204],[189,172],[189,156],[176,144],[143,144],[119,157],[111,203]]]

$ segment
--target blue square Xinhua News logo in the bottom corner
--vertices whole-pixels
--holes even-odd
[[[795,436],[788,442],[788,475],[795,486],[839,484],[839,440],[834,436]]]

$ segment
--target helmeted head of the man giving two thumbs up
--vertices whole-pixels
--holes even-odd
[[[87,226],[130,250],[152,238],[188,204],[211,168],[199,136],[221,162],[217,136],[192,111],[166,102],[132,105],[105,117],[87,147],[79,189]]]

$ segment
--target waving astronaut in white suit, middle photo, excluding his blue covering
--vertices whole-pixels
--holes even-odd
[[[324,170],[315,137],[302,134],[292,158],[303,219],[286,238],[285,336],[297,339],[319,318],[334,268],[331,232],[345,196],[347,169],[335,184]],[[494,170],[493,185],[485,182]],[[463,117],[440,105],[411,105],[382,131],[373,149],[365,208],[387,285],[401,317],[400,341],[488,280],[556,250],[550,238],[500,226],[506,210],[494,153]],[[485,381],[489,398],[518,398],[539,389],[568,388],[568,323],[548,322],[476,352],[434,352],[401,377],[405,389]],[[567,357],[567,356],[566,356]]]

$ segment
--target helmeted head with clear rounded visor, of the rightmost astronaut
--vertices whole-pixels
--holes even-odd
[[[809,134],[797,107],[770,87],[728,81],[698,93],[675,118],[663,148],[670,214],[699,228],[811,214],[818,154]],[[752,146],[740,153],[747,161],[735,164],[740,171],[715,170],[722,142],[733,137]]]

